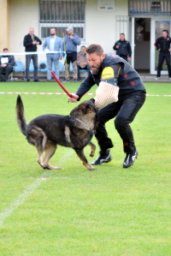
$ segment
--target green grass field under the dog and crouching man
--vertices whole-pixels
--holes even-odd
[[[66,87],[75,92],[79,84]],[[109,164],[86,170],[72,149],[58,146],[50,164],[63,170],[41,169],[15,121],[17,96],[0,94],[1,256],[171,255],[171,97],[162,96],[171,95],[171,84],[145,86],[160,96],[148,96],[131,125],[139,157],[126,170],[114,120],[107,123],[115,144]],[[13,82],[0,83],[0,92],[62,89],[56,82]],[[68,115],[76,105],[66,95],[21,98],[27,122],[46,113]],[[90,163],[89,152],[87,146]]]

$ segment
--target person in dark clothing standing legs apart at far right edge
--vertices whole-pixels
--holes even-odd
[[[156,80],[160,79],[162,63],[164,62],[164,59],[166,60],[166,63],[168,65],[168,77],[171,80],[170,44],[171,38],[168,37],[168,30],[163,30],[162,37],[156,39],[155,43],[156,50],[159,51]]]

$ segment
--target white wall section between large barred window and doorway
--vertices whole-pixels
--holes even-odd
[[[100,11],[97,0],[86,0],[85,5],[85,43],[97,43],[106,53],[115,53],[113,46],[118,40],[116,35],[116,15],[127,15],[127,0],[115,0],[114,11]]]

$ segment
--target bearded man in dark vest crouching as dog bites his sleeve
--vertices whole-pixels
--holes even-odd
[[[101,151],[99,157],[91,164],[103,164],[111,161],[109,148],[114,145],[108,137],[105,123],[116,116],[115,128],[121,136],[123,149],[127,154],[123,167],[130,167],[138,156],[130,123],[133,122],[134,117],[144,104],[144,83],[127,61],[118,56],[104,54],[101,45],[89,45],[86,48],[86,53],[91,70],[80,84],[77,92],[72,94],[73,98],[69,98],[69,100],[71,102],[79,101],[85,92],[88,92],[95,84],[99,86],[97,90],[100,86],[104,86],[104,88],[106,86],[106,90],[108,90],[108,86],[117,88],[114,102],[107,104],[97,112],[99,124],[95,136]],[[108,98],[106,98],[107,100]],[[97,97],[95,98],[97,106],[96,102]]]

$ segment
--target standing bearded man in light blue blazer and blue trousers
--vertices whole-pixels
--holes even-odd
[[[48,48],[49,51],[63,51],[63,40],[56,36],[56,28],[52,27],[50,29],[50,37],[45,39],[43,49]],[[54,63],[56,69],[56,77],[59,79],[59,59],[62,60],[63,52],[61,53],[48,53],[47,54],[48,72],[47,81],[51,80],[51,69],[52,63]]]

